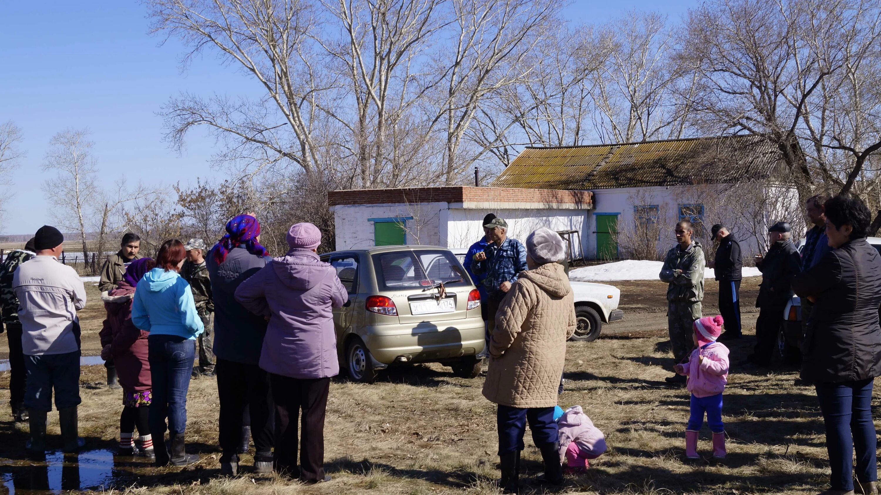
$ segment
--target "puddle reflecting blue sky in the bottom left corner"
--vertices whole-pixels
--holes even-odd
[[[133,476],[139,467],[149,467],[146,459],[117,457],[113,451],[95,449],[79,454],[54,451],[46,460],[18,461],[0,466],[0,494],[54,495],[71,490],[109,489],[122,477]]]

